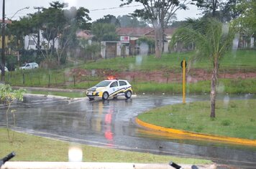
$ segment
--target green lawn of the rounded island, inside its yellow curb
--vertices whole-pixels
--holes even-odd
[[[216,102],[216,118],[210,118],[210,102],[168,105],[138,116],[142,121],[191,132],[256,139],[256,100]]]

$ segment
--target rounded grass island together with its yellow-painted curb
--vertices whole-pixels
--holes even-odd
[[[216,117],[211,118],[210,101],[187,102],[148,110],[135,121],[155,131],[172,133],[166,137],[173,139],[256,146],[255,104],[255,99],[217,100]]]

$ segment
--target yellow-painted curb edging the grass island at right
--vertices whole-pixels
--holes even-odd
[[[147,127],[152,130],[169,132],[169,133],[173,133],[175,135],[183,135],[184,137],[188,137],[189,139],[192,139],[192,140],[198,140],[198,139],[200,139],[200,140],[215,140],[215,141],[220,141],[220,142],[224,142],[224,143],[256,146],[256,140],[248,140],[248,139],[242,139],[242,138],[237,138],[237,137],[224,137],[224,136],[218,136],[218,135],[206,135],[206,134],[201,134],[201,133],[196,133],[196,132],[187,132],[185,130],[165,128],[165,127],[160,127],[157,125],[152,125],[147,122],[143,122],[142,120],[138,119],[137,117],[135,118],[135,122],[137,122],[138,125]]]

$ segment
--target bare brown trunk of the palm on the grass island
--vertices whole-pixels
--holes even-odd
[[[218,61],[216,60],[214,62],[214,69],[211,74],[211,115],[210,117],[215,117],[217,74],[218,74]]]

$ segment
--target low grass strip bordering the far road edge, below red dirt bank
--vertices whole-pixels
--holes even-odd
[[[88,89],[98,82],[81,82],[76,84],[76,89]],[[156,82],[131,82],[134,93],[136,94],[181,94],[183,89],[182,83],[156,83]],[[217,92],[219,94],[240,94],[240,93],[256,93],[256,79],[219,79],[217,85]],[[73,84],[66,87],[68,89],[73,88]],[[186,94],[204,94],[209,93],[211,90],[211,82],[199,81],[196,83],[186,84]],[[63,97],[86,97],[81,92],[43,92],[43,91],[32,91],[28,90],[31,94],[42,94],[42,95],[57,95]]]

